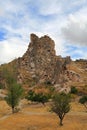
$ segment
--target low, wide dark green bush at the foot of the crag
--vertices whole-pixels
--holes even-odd
[[[45,104],[49,100],[50,95],[44,94],[42,92],[35,93],[34,91],[31,90],[31,91],[28,92],[28,95],[26,96],[26,98],[28,100],[31,100],[31,101],[34,101],[34,102],[40,102],[42,104]]]

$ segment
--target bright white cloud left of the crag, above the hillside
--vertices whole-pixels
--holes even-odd
[[[21,39],[11,38],[0,41],[0,64],[10,62],[11,60],[21,57],[27,49]]]

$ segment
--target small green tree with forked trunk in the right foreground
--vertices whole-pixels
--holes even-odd
[[[57,114],[60,119],[60,126],[63,125],[63,119],[70,111],[70,95],[65,93],[55,94],[51,110]]]

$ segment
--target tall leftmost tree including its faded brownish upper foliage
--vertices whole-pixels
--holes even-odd
[[[15,107],[19,104],[20,98],[23,94],[23,88],[20,84],[17,84],[15,66],[11,69],[8,68],[8,66],[3,67],[3,77],[5,78],[8,90],[5,100],[12,108],[12,113],[14,113]]]

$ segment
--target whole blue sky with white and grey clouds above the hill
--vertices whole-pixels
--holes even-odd
[[[0,0],[0,64],[21,57],[31,33],[48,34],[57,55],[87,59],[87,0]]]

